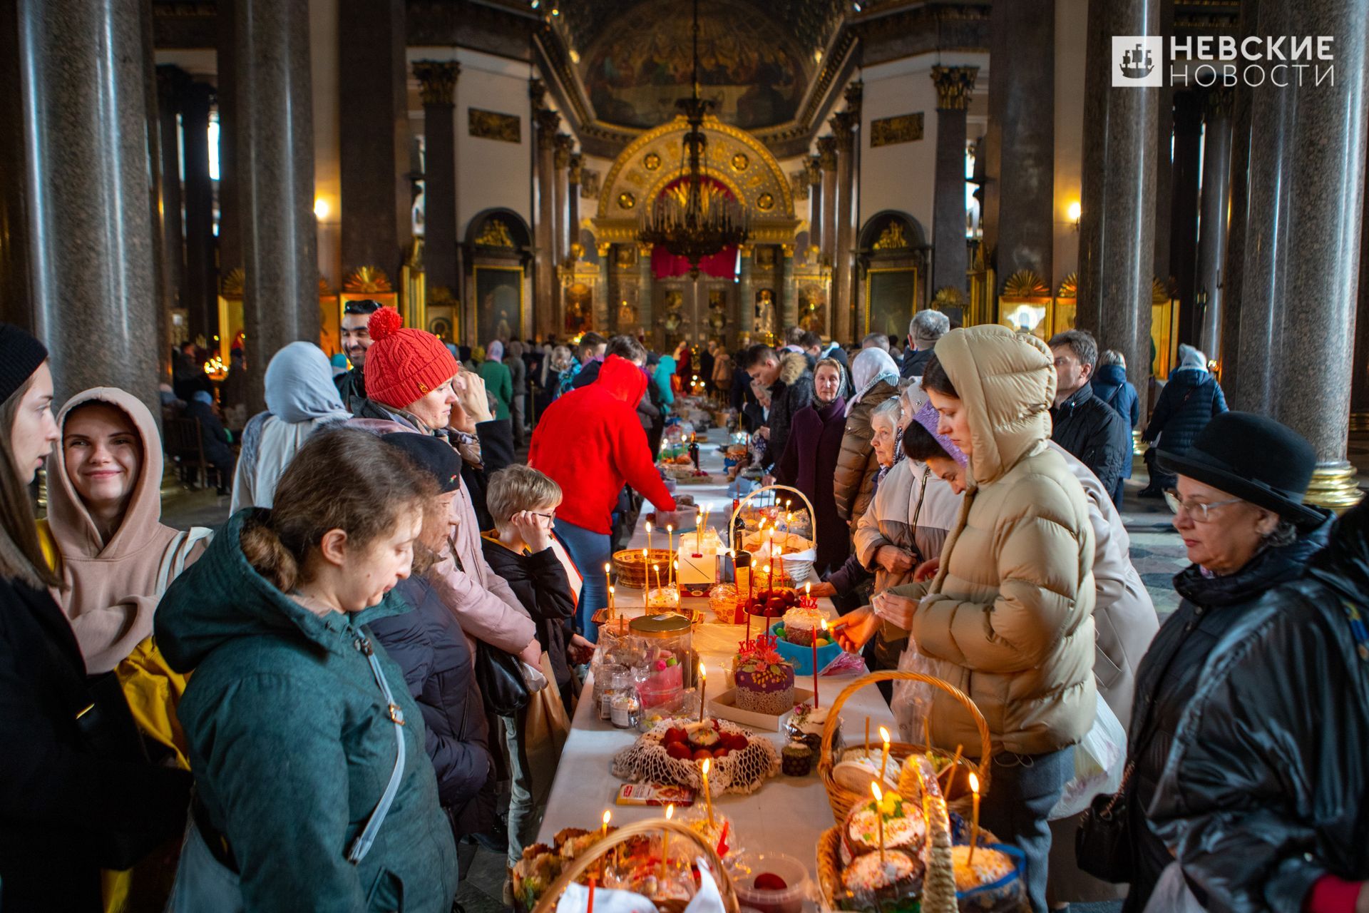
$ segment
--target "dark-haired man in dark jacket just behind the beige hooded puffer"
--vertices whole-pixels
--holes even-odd
[[[1051,439],[1092,470],[1121,509],[1123,467],[1131,459],[1131,431],[1090,383],[1098,364],[1098,344],[1083,330],[1050,339],[1055,357],[1055,402],[1050,409]]]

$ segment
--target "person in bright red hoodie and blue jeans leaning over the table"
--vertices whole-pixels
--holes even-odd
[[[645,391],[642,370],[611,355],[594,383],[571,390],[546,408],[527,453],[528,465],[561,486],[556,535],[585,575],[575,630],[590,641],[598,639],[590,617],[608,605],[608,584],[600,571],[612,557],[609,532],[623,483],[658,509],[675,509],[637,419]]]

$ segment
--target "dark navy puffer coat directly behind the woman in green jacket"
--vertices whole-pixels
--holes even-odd
[[[494,795],[485,790],[493,761],[471,649],[461,623],[426,579],[409,578],[396,590],[413,610],[367,627],[404,671],[423,712],[424,747],[452,831],[457,838],[482,832],[494,823]]]

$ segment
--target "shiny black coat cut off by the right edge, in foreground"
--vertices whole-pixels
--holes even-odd
[[[1359,506],[1303,579],[1227,631],[1203,669],[1151,821],[1207,909],[1299,910],[1322,875],[1369,880],[1366,600]]]

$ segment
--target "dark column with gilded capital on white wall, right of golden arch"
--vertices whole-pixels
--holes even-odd
[[[979,67],[932,67],[936,85],[936,190],[932,198],[932,282],[965,290],[965,110]]]

